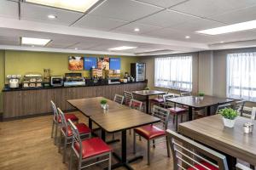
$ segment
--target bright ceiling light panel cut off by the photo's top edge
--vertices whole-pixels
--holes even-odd
[[[68,10],[84,13],[99,0],[26,0],[27,3],[38,3],[55,8],[65,8]]]

